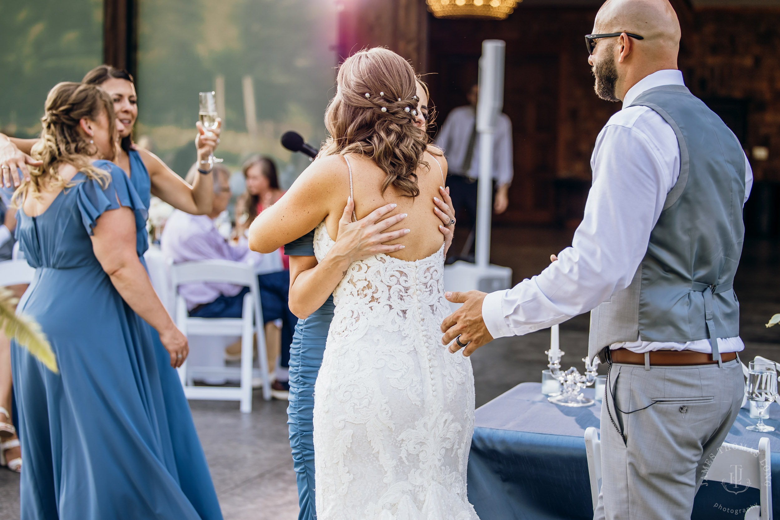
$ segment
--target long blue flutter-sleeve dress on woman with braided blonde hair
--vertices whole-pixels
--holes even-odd
[[[59,367],[52,373],[12,342],[21,518],[219,520],[181,385],[166,384],[176,371],[90,241],[101,214],[130,207],[142,254],[146,207],[119,167],[94,164],[111,174],[105,189],[79,173],[44,214],[19,212],[17,237],[36,273],[18,309],[41,324]]]

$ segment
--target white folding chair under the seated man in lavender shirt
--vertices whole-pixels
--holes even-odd
[[[241,401],[241,412],[252,411],[252,364],[254,334],[257,333],[257,354],[263,380],[263,398],[271,399],[271,380],[268,377],[268,359],[265,352],[265,334],[263,314],[260,302],[260,288],[257,276],[248,264],[229,260],[204,260],[184,262],[171,267],[173,289],[178,292],[179,285],[188,283],[223,283],[249,287],[243,299],[243,312],[240,318],[196,318],[187,313],[184,299],[176,299],[176,326],[186,336],[241,336],[241,386],[233,387],[196,387],[187,371],[187,363],[179,368],[179,379],[188,399],[212,399],[218,401]],[[223,372],[236,370],[223,368]]]

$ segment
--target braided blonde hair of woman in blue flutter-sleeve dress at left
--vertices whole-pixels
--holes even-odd
[[[94,85],[82,83],[57,83],[49,90],[41,118],[41,139],[33,146],[34,159],[43,161],[37,168],[30,168],[30,180],[23,182],[17,189],[15,198],[23,193],[36,196],[41,192],[41,184],[54,188],[73,186],[59,175],[60,164],[71,164],[88,179],[97,179],[105,188],[110,176],[105,170],[92,165],[91,155],[96,147],[79,132],[80,119],[97,121],[105,111],[108,116],[108,131],[115,134],[116,122],[114,104],[105,90]],[[112,159],[113,157],[108,157]],[[28,190],[29,188],[29,190]]]

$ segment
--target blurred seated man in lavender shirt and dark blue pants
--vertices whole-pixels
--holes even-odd
[[[192,183],[197,172],[197,164],[190,168],[187,181]],[[230,200],[230,172],[221,164],[214,166],[214,205],[207,215],[190,215],[183,211],[173,212],[165,223],[160,245],[165,258],[174,263],[192,260],[233,260],[255,264],[258,254],[250,251],[243,237],[237,246],[232,246],[219,233],[215,219],[228,207]],[[257,272],[257,271],[256,271]],[[275,391],[289,390],[286,381],[282,381],[281,372],[289,366],[289,345],[298,318],[290,312],[289,271],[276,271],[260,274],[257,277],[263,306],[263,321],[282,320],[282,370],[277,370]],[[243,308],[243,297],[249,288],[231,284],[186,284],[179,286],[179,294],[187,303],[191,317],[200,318],[239,318]]]

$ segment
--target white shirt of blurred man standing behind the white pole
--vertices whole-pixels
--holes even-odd
[[[474,143],[471,164],[466,172],[461,172],[461,166],[466,159],[469,140],[474,128],[476,115],[474,108],[469,106],[453,108],[447,116],[444,125],[436,136],[436,146],[444,150],[452,174],[466,175],[473,179],[479,178],[480,138]],[[493,179],[498,186],[512,182],[514,168],[512,166],[512,122],[506,114],[500,115],[496,125],[493,142]]]

